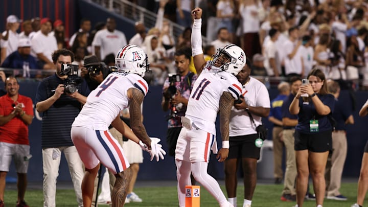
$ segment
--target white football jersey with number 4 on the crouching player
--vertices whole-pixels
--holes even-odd
[[[129,106],[127,91],[137,88],[144,96],[148,92],[147,82],[132,73],[111,73],[87,97],[87,102],[72,126],[93,127],[94,130],[108,130],[108,126],[121,110]]]

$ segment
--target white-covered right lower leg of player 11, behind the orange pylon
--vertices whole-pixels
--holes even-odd
[[[192,163],[192,174],[194,178],[217,200],[220,206],[228,206],[225,195],[222,193],[219,183],[207,173],[208,163]]]

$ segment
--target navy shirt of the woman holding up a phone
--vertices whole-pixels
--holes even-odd
[[[331,111],[334,111],[335,107],[335,98],[331,94],[319,95],[318,98],[328,107],[330,107]],[[307,133],[307,134],[315,134],[322,131],[332,130],[331,122],[327,116],[321,116],[317,114],[317,111],[314,107],[312,101],[308,102],[309,104],[303,103],[302,97],[299,99],[299,107],[300,111],[298,114],[298,124],[295,127],[295,130]],[[318,132],[311,132],[309,128],[309,124],[311,120],[318,120]]]

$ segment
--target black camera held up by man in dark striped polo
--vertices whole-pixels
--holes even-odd
[[[78,77],[78,65],[61,64],[60,75],[67,75],[64,79],[64,93],[73,94],[77,91],[77,85],[82,82]]]

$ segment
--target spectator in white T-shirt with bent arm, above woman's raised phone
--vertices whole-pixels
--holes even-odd
[[[303,77],[304,75],[303,57],[301,53],[298,53],[301,44],[302,40],[299,40],[299,29],[296,27],[290,28],[289,39],[283,44],[285,50],[285,75],[287,77]]]

